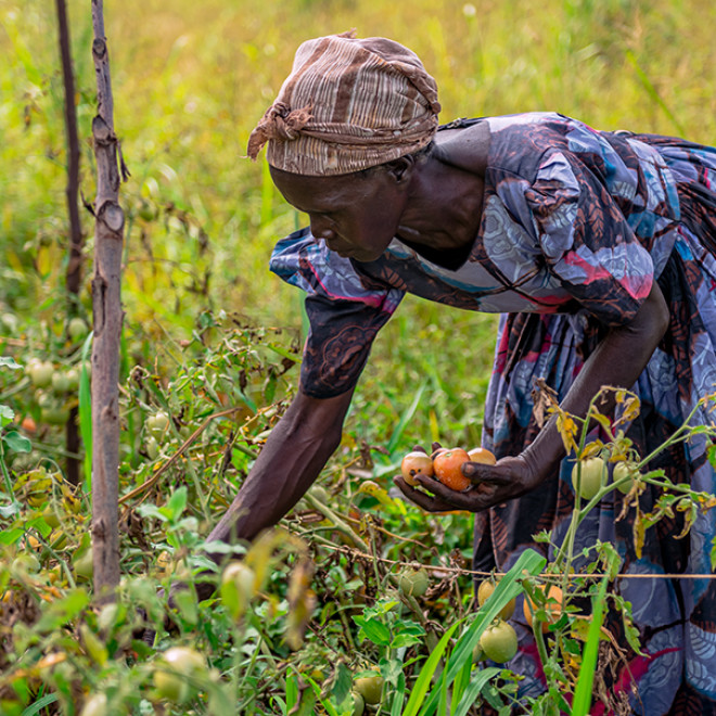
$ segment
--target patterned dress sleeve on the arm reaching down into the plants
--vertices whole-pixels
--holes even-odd
[[[353,388],[366,366],[373,340],[404,291],[361,281],[350,259],[317,242],[307,229],[281,240],[271,270],[306,291],[310,331],[304,346],[301,386],[315,398]]]

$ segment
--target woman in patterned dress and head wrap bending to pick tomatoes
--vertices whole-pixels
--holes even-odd
[[[533,414],[536,379],[577,415],[600,386],[634,387],[642,409],[629,436],[644,456],[714,389],[716,151],[545,113],[438,131],[439,108],[412,52],[346,34],[298,49],[252,133],[250,156],[268,142],[276,186],[310,218],[271,267],[308,293],[311,329],[298,394],[210,538],[252,538],[310,486],[340,443],[375,334],[408,292],[503,314],[484,438],[497,464],[465,465],[474,485],[463,493],[396,478],[425,510],[475,512],[480,568],[509,568],[541,529],[559,539],[573,503],[554,420],[540,429]],[[679,446],[653,466],[711,493],[705,449]],[[628,520],[615,522],[606,500],[593,514],[583,536],[615,542],[623,573],[711,572],[712,515],[690,544],[660,523],[637,559]],[[652,581],[618,585],[645,650],[630,672],[634,708],[716,713],[713,583]],[[538,693],[526,632],[511,665]]]

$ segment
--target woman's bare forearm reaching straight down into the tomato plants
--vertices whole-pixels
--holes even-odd
[[[353,389],[325,399],[311,398],[299,389],[208,539],[253,539],[261,529],[277,524],[341,444],[351,397]],[[221,558],[214,559],[218,562]]]

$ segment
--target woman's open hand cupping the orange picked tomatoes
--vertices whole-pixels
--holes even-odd
[[[415,482],[422,489],[408,485],[401,475],[397,475],[394,482],[409,500],[427,512],[482,512],[520,497],[542,482],[522,456],[502,458],[494,465],[465,462],[462,474],[472,482],[462,491],[450,489],[438,480],[422,474],[415,475]]]

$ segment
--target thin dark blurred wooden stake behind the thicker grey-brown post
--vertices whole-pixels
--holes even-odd
[[[75,75],[72,68],[72,43],[67,24],[65,0],[55,0],[57,28],[60,36],[60,56],[65,87],[65,131],[67,135],[67,213],[69,216],[69,260],[67,261],[67,317],[77,316],[79,290],[82,278],[82,228],[79,221],[79,138],[77,137],[77,112],[75,111]],[[73,407],[65,427],[67,448],[67,480],[77,485],[79,482],[79,460],[74,457],[79,452],[79,430],[77,408]]]

